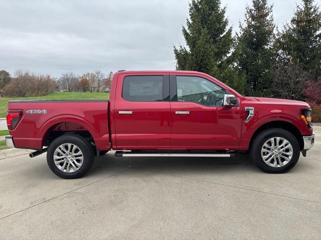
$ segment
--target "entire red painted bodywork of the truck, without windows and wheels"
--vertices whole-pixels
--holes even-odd
[[[122,98],[128,75],[188,75],[206,78],[234,94],[238,106],[204,106],[195,102],[130,102]],[[245,122],[246,106],[254,116]],[[284,121],[302,135],[312,129],[300,118],[309,105],[301,101],[244,97],[205,73],[195,71],[123,71],[114,74],[110,101],[10,101],[9,112],[21,112],[10,134],[16,147],[41,149],[51,131],[88,130],[97,147],[106,149],[220,149],[248,150],[255,131],[265,123]],[[28,114],[30,109],[47,113]],[[132,114],[119,114],[132,111]],[[189,111],[178,115],[176,111]]]

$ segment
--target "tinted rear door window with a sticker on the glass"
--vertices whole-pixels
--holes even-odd
[[[126,76],[122,97],[127,101],[162,101],[163,76]]]

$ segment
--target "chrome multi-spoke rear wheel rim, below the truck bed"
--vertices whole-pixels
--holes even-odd
[[[59,170],[64,172],[77,171],[84,160],[80,148],[72,143],[59,145],[54,152],[54,163]]]

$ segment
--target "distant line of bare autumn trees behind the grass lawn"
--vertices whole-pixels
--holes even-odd
[[[0,95],[6,97],[43,96],[53,91],[109,91],[113,72],[101,70],[77,76],[65,72],[59,78],[18,69],[13,76],[0,70]]]

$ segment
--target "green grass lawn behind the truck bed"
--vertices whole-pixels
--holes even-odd
[[[45,99],[45,100],[108,100],[109,93],[104,92],[53,92],[45,96],[34,97],[2,97],[0,98],[0,117],[7,116],[7,104],[10,100],[32,100],[32,99]]]

